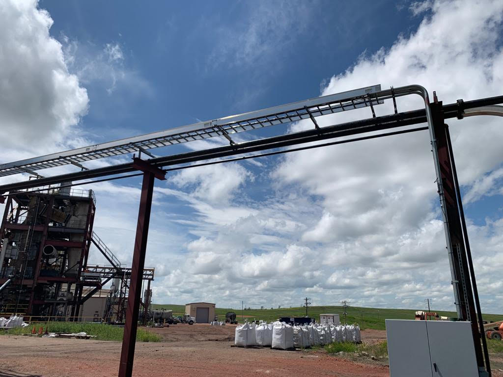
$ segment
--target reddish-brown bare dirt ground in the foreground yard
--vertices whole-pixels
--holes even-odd
[[[389,376],[386,365],[358,363],[323,351],[232,347],[235,326],[172,325],[150,329],[159,343],[136,343],[134,376]],[[364,339],[384,331],[362,331]],[[121,343],[2,336],[0,377],[111,377],[119,368]]]

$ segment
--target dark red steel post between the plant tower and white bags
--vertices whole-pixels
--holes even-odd
[[[136,239],[134,243],[133,265],[129,284],[126,321],[124,324],[124,338],[122,340],[119,377],[131,377],[133,373],[134,348],[136,344],[136,330],[138,326],[138,312],[140,308],[140,291],[147,248],[148,225],[150,223],[150,209],[152,207],[152,193],[154,188],[154,173],[145,171],[141,186],[140,208]]]

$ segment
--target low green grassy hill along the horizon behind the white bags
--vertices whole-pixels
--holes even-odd
[[[172,304],[153,304],[154,309],[164,308],[173,310],[175,316],[185,314],[185,305]],[[241,310],[215,308],[215,314],[220,320],[225,319],[225,313],[234,312],[237,315],[238,322],[248,320],[265,320],[272,322],[279,317],[302,317],[306,314],[306,309],[298,308],[282,308],[282,309],[250,309]],[[341,316],[341,321],[344,321],[343,309],[340,306],[313,306],[309,307],[309,317],[316,318],[319,321],[319,315],[322,313],[335,313]],[[377,309],[377,308],[358,308],[350,307],[348,309],[348,323],[358,323],[362,329],[385,330],[385,319],[414,319],[415,310],[413,309]],[[454,312],[437,312],[441,316],[455,317]],[[242,317],[241,317],[242,314]],[[484,314],[483,319],[488,322],[503,321],[503,315]]]

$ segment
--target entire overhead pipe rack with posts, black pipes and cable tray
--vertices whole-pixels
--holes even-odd
[[[396,98],[413,94],[420,95],[423,98],[425,108],[399,113],[396,107]],[[390,99],[393,100],[394,114],[376,117],[374,106],[382,104],[385,100]],[[163,179],[165,172],[170,170],[236,161],[272,154],[288,153],[296,150],[348,143],[400,133],[428,130],[437,176],[436,182],[442,209],[441,212],[444,222],[447,252],[451,266],[451,282],[454,289],[456,312],[458,319],[469,321],[472,324],[472,335],[479,375],[490,375],[490,364],[485,339],[483,337],[483,327],[481,327],[480,304],[476,289],[475,273],[473,271],[471,251],[469,250],[468,245],[468,235],[466,233],[466,226],[464,223],[464,214],[462,210],[459,184],[457,182],[452,145],[450,143],[448,129],[446,128],[444,121],[449,118],[462,119],[464,116],[472,115],[500,115],[503,113],[501,112],[501,107],[495,105],[501,103],[503,103],[503,96],[467,102],[458,100],[457,103],[449,105],[442,105],[442,103],[439,103],[435,98],[435,102],[430,104],[428,92],[421,85],[408,85],[397,88],[391,87],[386,90],[380,90],[380,85],[374,85],[367,88],[338,93],[336,95],[319,97],[317,99],[277,106],[238,116],[221,118],[215,121],[201,122],[196,125],[180,127],[160,133],[142,135],[136,138],[123,139],[116,142],[79,148],[73,151],[3,164],[0,165],[0,175],[10,175],[26,171],[31,173],[34,172],[34,170],[46,167],[60,166],[63,164],[76,165],[76,163],[93,158],[132,152],[145,153],[147,152],[146,149],[151,149],[154,146],[161,147],[167,144],[188,142],[191,140],[204,139],[213,136],[223,136],[229,141],[229,145],[227,146],[179,153],[163,157],[152,157],[148,160],[134,158],[131,163],[115,164],[98,169],[86,169],[83,166],[76,165],[81,167],[82,170],[51,177],[41,177],[35,180],[0,185],[0,195],[13,190],[34,190],[36,187],[41,187],[43,185],[75,182],[104,176],[115,175],[114,177],[101,180],[119,179],[140,174],[143,175],[142,195],[140,200],[138,227],[133,255],[131,279],[132,289],[129,291],[128,301],[128,308],[131,308],[131,310],[128,309],[126,317],[126,329],[123,339],[119,369],[119,376],[130,376],[132,374],[133,367],[134,335],[136,333],[136,326],[133,326],[133,324],[136,324],[138,320],[140,298],[139,292],[137,292],[135,287],[133,287],[133,284],[138,284],[138,280],[140,279],[140,267],[143,267],[145,258],[146,237],[148,233],[148,219],[150,215],[154,177]],[[334,124],[326,127],[319,127],[316,121],[316,117],[362,107],[370,107],[372,111],[372,118],[342,124]],[[261,138],[241,143],[234,142],[229,136],[235,132],[283,124],[301,119],[310,119],[314,128],[306,131],[292,132],[284,135]],[[311,144],[293,149],[279,149],[293,145],[374,131],[383,131],[421,123],[427,123],[428,126],[413,129],[402,129],[394,132],[373,134],[317,145]],[[166,138],[169,139],[169,143],[166,144],[161,142],[167,140]],[[159,140],[158,144],[155,142],[156,140]],[[271,149],[274,151],[250,155],[250,153]],[[150,152],[145,154],[150,157],[153,156]],[[224,157],[236,155],[244,156],[226,158],[222,160]],[[199,162],[207,160],[212,161]],[[194,162],[199,163],[194,164]],[[166,166],[172,167],[161,170],[162,167]],[[142,173],[118,175],[135,171],[142,171]],[[37,175],[40,176],[40,174]],[[96,181],[98,180],[94,180],[94,182]],[[90,182],[63,183],[61,187],[64,187],[65,185],[70,186],[86,183]],[[482,345],[481,337],[483,343]]]

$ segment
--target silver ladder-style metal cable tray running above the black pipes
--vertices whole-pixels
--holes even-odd
[[[35,173],[35,170],[73,164],[83,168],[82,162],[98,158],[119,156],[127,153],[144,152],[148,149],[187,143],[195,140],[224,136],[258,128],[285,124],[310,118],[318,128],[315,117],[382,104],[376,93],[381,85],[350,90],[310,100],[280,105],[264,110],[199,122],[188,126],[135,136],[103,144],[91,145],[65,152],[0,165],[0,176],[18,173]]]

